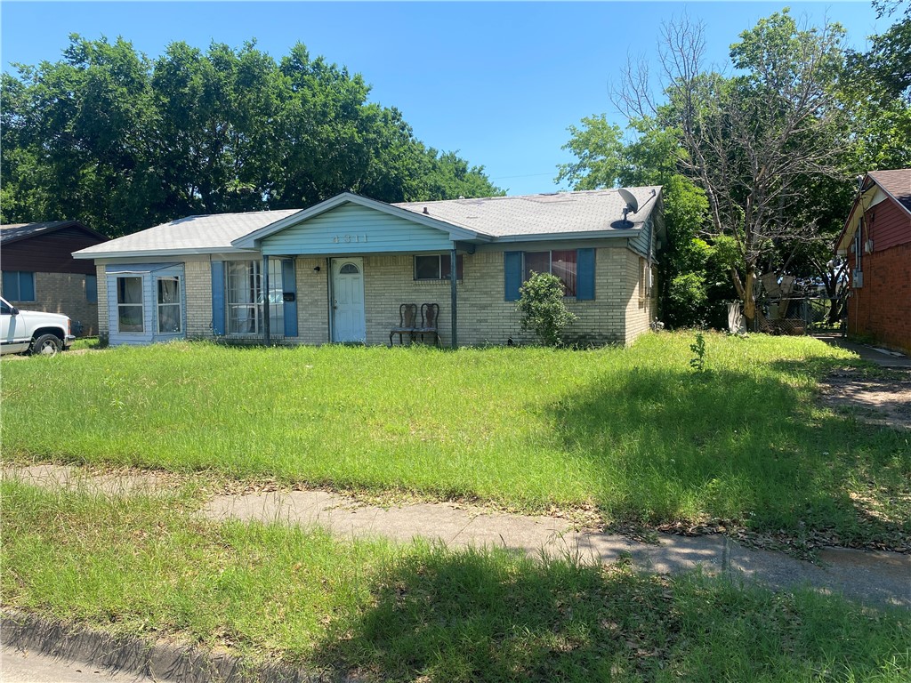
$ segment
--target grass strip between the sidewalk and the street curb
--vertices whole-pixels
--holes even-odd
[[[5,481],[5,607],[366,680],[906,681],[907,611]]]

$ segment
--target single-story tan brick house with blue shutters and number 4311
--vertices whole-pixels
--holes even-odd
[[[425,302],[439,305],[444,345],[532,341],[516,312],[531,270],[563,280],[578,315],[569,339],[629,343],[654,315],[663,235],[660,187],[630,191],[635,213],[616,189],[402,204],[343,193],[310,209],[190,216],[74,256],[95,260],[112,344],[380,344],[400,304]]]

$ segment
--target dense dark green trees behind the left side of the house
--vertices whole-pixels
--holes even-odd
[[[305,208],[348,190],[408,201],[502,194],[483,167],[425,147],[344,67],[292,47],[71,36],[0,86],[0,219],[82,219],[112,236],[189,214]]]

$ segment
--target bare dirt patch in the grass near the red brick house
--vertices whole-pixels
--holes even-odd
[[[863,423],[911,430],[911,372],[845,369],[829,373],[819,386],[825,406]]]

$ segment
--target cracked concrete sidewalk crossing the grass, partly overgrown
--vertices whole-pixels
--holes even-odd
[[[167,475],[87,477],[77,468],[34,465],[6,468],[4,477],[32,484],[80,486],[104,494],[156,490]],[[813,586],[868,604],[911,608],[911,556],[848,548],[824,548],[820,564],[766,550],[747,548],[723,535],[657,534],[655,545],[626,536],[576,531],[565,519],[507,515],[482,507],[448,503],[379,507],[326,491],[286,491],[216,495],[200,510],[214,521],[227,519],[322,525],[341,537],[415,538],[451,547],[505,547],[528,556],[573,556],[584,562],[609,563],[628,556],[644,571],[678,573],[701,566],[710,574],[742,576],[773,588]]]

